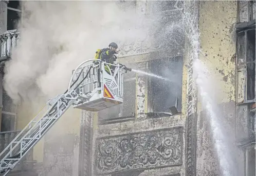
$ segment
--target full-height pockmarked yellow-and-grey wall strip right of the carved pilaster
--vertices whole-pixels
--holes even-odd
[[[200,1],[199,31],[202,61],[214,79],[214,94],[221,126],[229,147],[235,146],[235,29],[237,6],[234,1]],[[197,166],[196,175],[220,175],[220,167],[212,142],[212,129],[198,95],[197,104]],[[232,147],[231,147],[232,148]],[[232,148],[237,175],[243,175],[243,153]],[[232,162],[233,162],[232,161]],[[233,169],[235,169],[233,168]]]

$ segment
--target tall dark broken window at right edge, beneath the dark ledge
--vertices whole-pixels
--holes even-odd
[[[245,68],[244,102],[255,101],[255,29],[246,29],[237,37],[237,66]]]

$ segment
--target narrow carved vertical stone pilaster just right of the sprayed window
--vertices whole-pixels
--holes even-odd
[[[185,60],[188,64],[187,83],[187,143],[186,143],[186,175],[196,175],[196,86],[193,79],[193,62],[198,57],[197,46],[192,41],[193,37],[199,37],[199,2],[185,1],[185,24],[188,34],[185,44]]]

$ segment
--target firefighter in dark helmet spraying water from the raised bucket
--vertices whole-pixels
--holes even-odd
[[[115,56],[115,54],[118,53],[117,48],[118,48],[117,43],[112,42],[108,45],[108,48],[97,50],[95,54],[95,59],[101,59],[106,63],[114,64],[114,62],[117,59],[117,57]],[[108,67],[110,68],[110,70],[108,69]],[[108,65],[108,67],[107,65],[105,65],[105,71],[108,74],[111,74],[112,70],[114,70],[113,65]],[[100,74],[98,74],[98,82],[99,82],[98,87],[101,87]]]

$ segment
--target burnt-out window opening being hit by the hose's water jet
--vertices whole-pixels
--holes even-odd
[[[149,78],[148,112],[169,113],[172,106],[176,106],[178,112],[181,111],[182,65],[182,57],[150,61],[150,72],[170,81]]]

